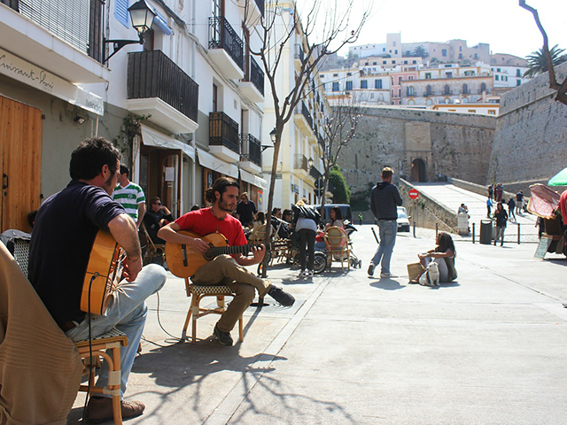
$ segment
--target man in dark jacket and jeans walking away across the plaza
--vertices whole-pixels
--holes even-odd
[[[380,231],[380,244],[374,257],[370,261],[369,276],[374,275],[374,268],[382,261],[380,277],[396,277],[390,272],[393,246],[396,244],[398,232],[398,209],[402,204],[400,192],[392,184],[393,170],[389,166],[382,170],[382,182],[372,188],[370,195],[370,209],[377,218]]]

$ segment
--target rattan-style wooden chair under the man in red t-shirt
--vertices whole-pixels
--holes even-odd
[[[190,283],[189,278],[185,278],[185,290],[187,292],[187,297],[191,298],[189,311],[187,312],[187,318],[185,319],[185,324],[183,325],[183,332],[181,339],[187,341],[187,328],[189,327],[189,321],[191,322],[191,343],[197,341],[197,320],[200,317],[206,316],[207,314],[222,314],[226,311],[225,307],[225,296],[234,296],[234,292],[225,285],[194,285]],[[205,308],[201,307],[201,300],[205,297],[216,297],[216,307]],[[238,319],[238,340],[242,343],[244,338],[244,320],[242,315]]]

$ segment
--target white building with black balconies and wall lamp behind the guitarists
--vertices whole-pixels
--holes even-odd
[[[132,180],[175,216],[202,205],[220,175],[261,199],[263,70],[248,52],[260,44],[252,23],[263,0],[147,0],[154,18],[144,44],[132,3],[0,3],[0,101],[19,126],[2,143],[34,153],[12,150],[11,163],[27,165],[4,174],[14,193],[25,185],[31,194],[16,205],[11,191],[0,208],[17,217],[2,228],[26,229],[25,214],[66,186],[71,151],[94,135],[115,141]],[[115,40],[131,43],[119,42],[113,54]],[[144,118],[139,134],[133,115]],[[24,137],[24,128],[35,131]]]

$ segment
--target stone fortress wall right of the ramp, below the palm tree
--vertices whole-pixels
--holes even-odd
[[[556,66],[555,74],[561,83],[567,63]],[[529,193],[530,185],[547,183],[567,166],[567,104],[555,102],[543,73],[503,94],[500,107],[485,184],[501,182],[511,192]]]

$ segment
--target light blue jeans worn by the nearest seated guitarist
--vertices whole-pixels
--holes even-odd
[[[166,283],[166,270],[157,264],[149,264],[142,268],[135,282],[122,281],[116,288],[108,303],[105,316],[90,314],[91,336],[104,335],[112,328],[117,328],[128,336],[128,346],[120,350],[120,392],[123,395],[128,383],[128,375],[132,370],[134,359],[142,332],[148,307],[145,299],[158,292]],[[76,328],[66,331],[65,335],[73,341],[89,338],[89,314]],[[104,387],[108,383],[108,365],[103,365],[98,375],[97,386]],[[100,394],[101,397],[110,397]]]

